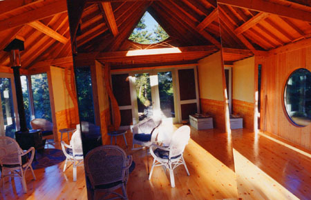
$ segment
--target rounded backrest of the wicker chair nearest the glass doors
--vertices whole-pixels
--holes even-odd
[[[145,133],[149,134],[152,131],[160,126],[162,119],[159,117],[147,117],[146,119],[140,121],[132,128],[132,132],[135,133]]]

